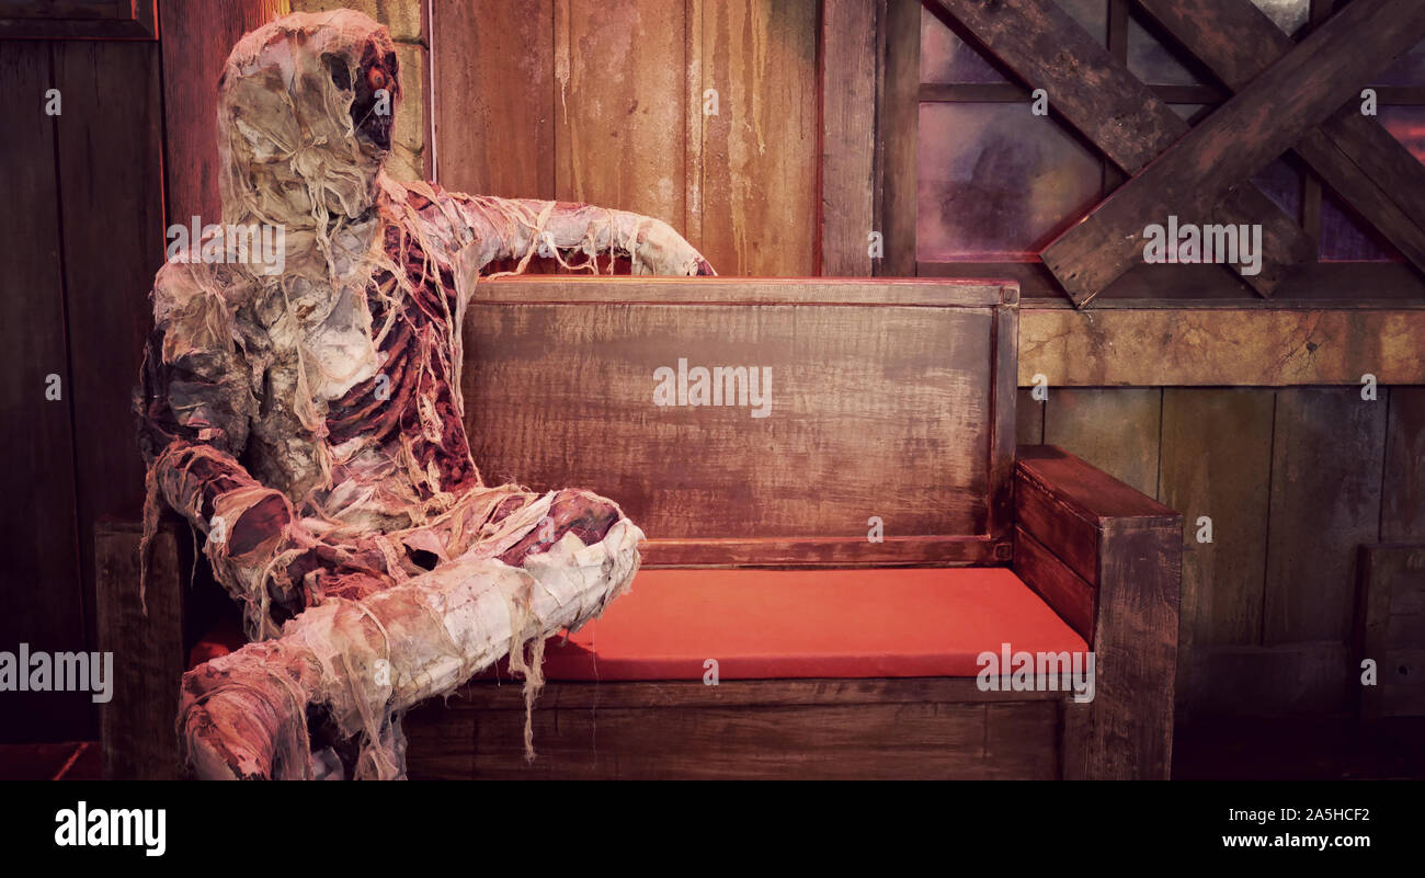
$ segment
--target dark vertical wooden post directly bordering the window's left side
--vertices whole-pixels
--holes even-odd
[[[921,4],[885,0],[876,101],[876,225],[885,259],[878,275],[915,277],[919,221]]]

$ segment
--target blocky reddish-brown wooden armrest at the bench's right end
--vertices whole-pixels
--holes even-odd
[[[1019,448],[1015,572],[1094,653],[1066,777],[1168,777],[1181,554],[1173,509],[1054,446]]]

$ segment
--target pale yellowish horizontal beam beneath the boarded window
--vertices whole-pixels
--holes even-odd
[[[1419,308],[1025,308],[1019,383],[1036,372],[1056,388],[1359,386],[1367,372],[1425,383],[1421,338]]]

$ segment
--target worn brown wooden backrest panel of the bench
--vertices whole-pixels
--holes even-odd
[[[858,542],[879,516],[886,537],[1007,542],[1007,516],[989,530],[992,353],[995,314],[1012,309],[475,302],[463,386],[476,463],[492,483],[597,490],[651,539]],[[1013,348],[999,356],[1007,371]],[[680,359],[771,369],[770,415],[656,406],[654,371]]]

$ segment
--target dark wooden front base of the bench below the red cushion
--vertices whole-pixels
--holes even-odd
[[[551,683],[527,763],[519,683],[476,683],[406,716],[406,758],[412,780],[1052,780],[1083,707],[963,678]]]

